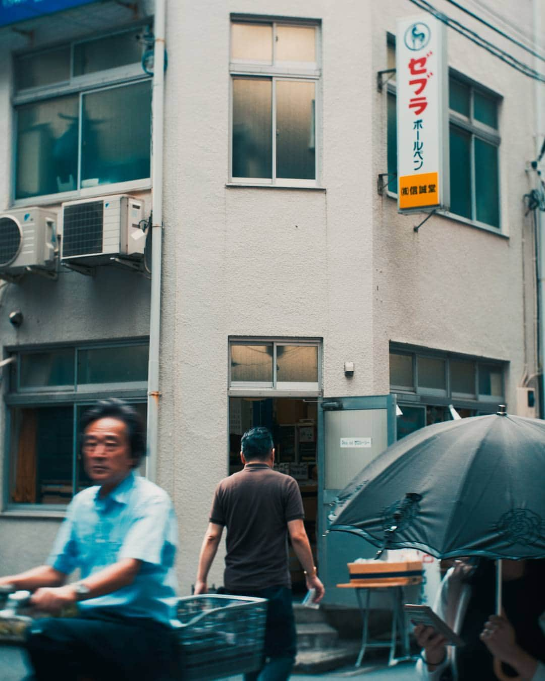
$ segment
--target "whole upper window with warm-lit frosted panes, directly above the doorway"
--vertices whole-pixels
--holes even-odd
[[[230,70],[232,180],[315,185],[317,26],[233,20]]]

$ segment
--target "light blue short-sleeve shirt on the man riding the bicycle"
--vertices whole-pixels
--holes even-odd
[[[175,617],[177,529],[168,494],[130,473],[110,494],[98,486],[74,496],[47,563],[69,574],[80,568],[82,580],[123,558],[142,561],[132,584],[80,601],[86,612],[116,612],[168,624]]]

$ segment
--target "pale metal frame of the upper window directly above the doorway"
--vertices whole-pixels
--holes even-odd
[[[263,64],[245,60],[232,60],[232,25],[233,24],[266,24],[272,26],[272,59],[270,64]],[[275,65],[275,36],[277,25],[294,26],[294,27],[309,27],[315,29],[315,55],[316,61],[313,67],[304,67],[300,62],[286,62],[283,66]],[[230,33],[229,33],[229,159],[228,159],[228,185],[235,186],[253,186],[253,187],[283,187],[283,188],[307,188],[320,189],[320,158],[322,155],[321,148],[321,131],[322,119],[320,112],[322,111],[322,69],[321,59],[322,44],[321,31],[322,24],[320,20],[312,19],[279,19],[275,17],[256,17],[248,15],[232,14],[230,16]],[[233,176],[233,83],[237,78],[247,78],[249,80],[259,78],[260,80],[268,79],[271,81],[271,133],[272,133],[272,166],[270,178],[250,178]],[[277,178],[277,141],[274,133],[276,129],[276,84],[279,81],[292,82],[314,82],[314,179],[301,178]]]

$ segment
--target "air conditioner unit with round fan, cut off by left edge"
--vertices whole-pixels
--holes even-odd
[[[44,208],[0,212],[0,277],[55,268],[57,213]]]

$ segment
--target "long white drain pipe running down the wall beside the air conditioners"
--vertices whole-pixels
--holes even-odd
[[[159,340],[161,338],[161,249],[163,238],[163,111],[165,92],[166,0],[155,0],[153,90],[151,102],[151,302],[149,313],[148,436],[146,476],[157,479],[159,441]]]

